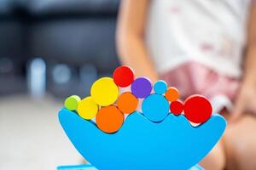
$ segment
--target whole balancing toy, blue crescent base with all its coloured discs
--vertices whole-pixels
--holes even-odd
[[[203,169],[197,163],[226,127],[224,117],[212,113],[204,96],[195,94],[182,101],[177,88],[135,77],[125,65],[113,77],[96,80],[90,96],[68,97],[59,120],[74,147],[90,162],[78,169],[99,170]]]

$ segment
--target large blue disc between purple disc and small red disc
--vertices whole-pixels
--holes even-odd
[[[169,113],[169,102],[160,94],[150,94],[143,100],[143,115],[152,122],[160,122],[166,118]]]

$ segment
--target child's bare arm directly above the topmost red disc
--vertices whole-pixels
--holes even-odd
[[[130,65],[137,76],[146,76],[155,82],[157,74],[143,37],[149,3],[148,0],[122,1],[117,28],[117,48],[123,64]]]

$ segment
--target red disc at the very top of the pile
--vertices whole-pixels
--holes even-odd
[[[122,65],[113,71],[113,82],[121,88],[125,88],[134,80],[134,73],[130,67]]]

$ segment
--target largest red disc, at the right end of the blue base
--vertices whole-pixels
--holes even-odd
[[[190,122],[207,122],[212,116],[212,105],[201,95],[191,95],[184,102],[184,114]]]

